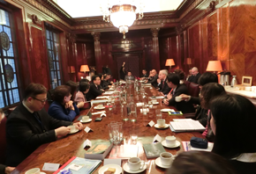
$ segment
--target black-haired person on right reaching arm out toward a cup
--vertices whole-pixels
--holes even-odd
[[[215,73],[210,72],[202,74],[199,79],[200,89],[207,83],[218,83],[218,76]],[[194,120],[199,120],[204,127],[207,127],[208,110],[200,106],[200,98],[192,97],[186,94],[181,94],[180,97],[182,97],[182,99],[185,101],[190,101],[194,105],[199,105],[197,107]]]

